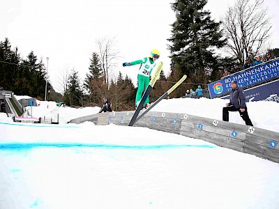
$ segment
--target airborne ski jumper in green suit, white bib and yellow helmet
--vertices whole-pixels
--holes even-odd
[[[140,59],[130,63],[123,63],[123,67],[140,64],[140,70],[137,74],[138,88],[137,95],[135,97],[135,107],[137,107],[137,104],[140,103],[140,100],[142,99],[142,94],[149,85],[151,72],[156,65],[156,60],[159,59],[159,57],[160,52],[158,51],[158,49],[152,49],[149,57],[144,57],[144,59]],[[147,97],[146,101],[144,102],[144,107],[148,106],[149,97]]]

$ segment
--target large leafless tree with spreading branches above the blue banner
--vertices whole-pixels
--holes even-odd
[[[223,17],[229,52],[240,63],[250,54],[260,54],[271,36],[271,22],[264,0],[237,0]]]

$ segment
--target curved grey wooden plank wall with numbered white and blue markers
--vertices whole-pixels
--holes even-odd
[[[102,113],[76,118],[70,123],[92,121],[96,125],[113,123],[128,126],[133,114],[134,111]],[[279,132],[189,114],[156,111],[149,111],[134,126],[202,139],[217,146],[279,163]]]

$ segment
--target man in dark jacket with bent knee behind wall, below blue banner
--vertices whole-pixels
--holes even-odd
[[[237,85],[237,81],[232,82],[232,91],[230,93],[229,103],[227,107],[223,107],[223,121],[229,121],[229,111],[239,111],[239,114],[246,125],[252,125],[248,116],[243,89]]]

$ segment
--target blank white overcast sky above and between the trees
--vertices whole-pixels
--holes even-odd
[[[138,66],[123,68],[123,62],[149,56],[150,50],[159,49],[160,60],[169,73],[170,59],[167,38],[174,22],[173,1],[89,1],[89,0],[9,0],[0,7],[0,40],[8,38],[12,47],[18,47],[22,58],[33,50],[34,54],[48,62],[50,83],[56,91],[62,91],[63,74],[75,68],[80,78],[89,72],[92,52],[98,52],[98,38],[114,38],[119,50],[118,67],[123,75],[137,80]],[[220,20],[233,0],[209,0],[206,9],[211,17]],[[272,48],[279,48],[279,1],[265,0],[265,6],[273,16]]]

